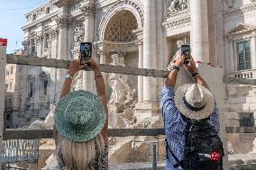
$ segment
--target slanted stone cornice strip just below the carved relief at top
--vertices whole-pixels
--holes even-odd
[[[175,30],[178,28],[185,27],[191,23],[191,17],[181,18],[176,21],[163,22],[162,25],[166,30]]]

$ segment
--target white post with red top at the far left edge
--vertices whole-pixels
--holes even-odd
[[[5,111],[5,67],[6,67],[6,46],[7,40],[0,38],[0,156],[3,154],[3,130]],[[0,170],[2,160],[0,160]]]

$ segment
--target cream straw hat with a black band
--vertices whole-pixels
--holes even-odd
[[[174,101],[181,114],[197,121],[206,119],[215,109],[214,95],[205,86],[197,84],[179,86]]]

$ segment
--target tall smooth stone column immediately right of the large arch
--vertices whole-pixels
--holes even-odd
[[[144,0],[143,67],[157,68],[156,59],[156,1]],[[156,101],[157,85],[153,77],[143,77],[143,101]]]

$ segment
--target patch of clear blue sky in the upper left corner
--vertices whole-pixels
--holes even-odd
[[[8,39],[7,53],[23,48],[24,14],[45,2],[47,0],[0,0],[0,38]]]

